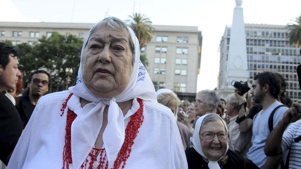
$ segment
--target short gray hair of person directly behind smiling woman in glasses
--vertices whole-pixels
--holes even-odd
[[[213,105],[210,113],[215,113],[217,105],[219,104],[219,95],[217,95],[215,90],[202,90],[197,93],[197,95],[203,95],[203,98],[206,100],[206,104]]]

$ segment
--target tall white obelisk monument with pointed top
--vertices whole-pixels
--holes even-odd
[[[233,80],[245,82],[249,78],[242,0],[235,0],[235,2],[228,57],[221,56],[220,61],[217,92],[223,99],[227,99],[228,95],[234,92],[234,87],[231,86]],[[226,51],[224,53],[227,55]]]

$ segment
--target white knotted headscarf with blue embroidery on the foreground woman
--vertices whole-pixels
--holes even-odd
[[[95,24],[93,27],[96,27],[97,25],[98,23]],[[126,89],[116,97],[109,98],[109,99],[98,98],[94,96],[87,89],[87,87],[82,81],[82,66],[83,66],[82,61],[83,61],[83,52],[93,27],[88,32],[84,44],[82,46],[81,63],[78,70],[76,85],[69,87],[69,90],[72,93],[74,93],[74,95],[79,96],[85,100],[88,100],[92,102],[92,104],[85,106],[83,108],[85,109],[85,112],[82,115],[77,114],[78,116],[73,121],[72,128],[71,128],[71,132],[72,131],[76,132],[74,134],[71,133],[71,139],[73,139],[71,140],[71,142],[74,141],[77,144],[80,143],[80,145],[78,146],[81,145],[83,146],[77,147],[75,145],[72,145],[72,143],[71,146],[76,147],[76,150],[83,154],[88,154],[90,152],[92,148],[91,146],[93,146],[95,143],[94,140],[95,138],[87,138],[87,137],[90,137],[92,135],[97,138],[98,131],[99,131],[98,129],[100,129],[99,127],[101,127],[101,126],[95,126],[93,122],[100,123],[99,121],[102,121],[104,107],[106,105],[109,105],[108,124],[103,133],[103,141],[107,153],[107,159],[110,166],[114,163],[117,154],[121,149],[121,146],[123,145],[125,139],[124,119],[132,115],[132,114],[126,114],[125,117],[123,117],[123,113],[121,109],[118,107],[117,103],[125,102],[134,98],[140,98],[143,100],[151,100],[157,102],[157,97],[151,78],[149,77],[147,70],[145,69],[142,62],[140,61],[140,49],[139,49],[138,39],[136,38],[135,33],[130,27],[127,27],[127,29],[129,30],[130,38],[132,39],[135,45],[135,63],[133,65],[133,72]],[[92,131],[90,133],[85,131],[85,128],[87,126],[88,127],[92,126],[91,127]],[[76,153],[73,153],[72,150],[73,167],[79,168],[79,166],[82,164],[85,158],[86,157],[84,157],[84,155],[77,155]]]

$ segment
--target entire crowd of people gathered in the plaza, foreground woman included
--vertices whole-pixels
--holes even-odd
[[[181,101],[155,91],[135,33],[115,17],[88,32],[66,91],[48,93],[45,70],[23,89],[17,57],[0,43],[0,159],[8,169],[301,168],[301,101],[286,97],[278,73],[257,74],[246,93],[202,90]]]

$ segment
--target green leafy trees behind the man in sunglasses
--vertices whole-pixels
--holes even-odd
[[[53,32],[51,37],[42,36],[33,45],[27,43],[18,44],[15,47],[20,53],[20,70],[23,73],[23,82],[35,70],[44,69],[51,74],[52,86],[67,83],[66,68],[72,68],[70,75],[71,84],[75,84],[80,63],[80,52],[83,40],[75,35],[61,35]]]

